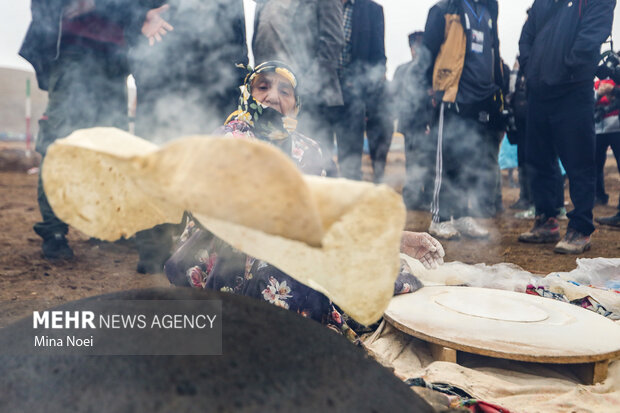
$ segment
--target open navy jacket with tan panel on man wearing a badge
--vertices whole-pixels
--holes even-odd
[[[504,84],[503,67],[499,54],[497,34],[497,1],[487,0],[493,20],[493,72],[495,84]],[[424,45],[431,54],[427,78],[433,90],[443,92],[443,101],[454,102],[465,64],[467,39],[462,0],[442,0],[431,7],[424,28]]]

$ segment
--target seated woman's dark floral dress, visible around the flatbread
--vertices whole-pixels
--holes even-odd
[[[226,136],[257,139],[243,121],[231,121],[218,131]],[[304,173],[323,174],[320,147],[313,140],[292,132],[289,137],[271,141],[287,151]],[[322,293],[298,282],[265,261],[248,256],[217,238],[187,215],[185,231],[165,273],[171,283],[205,288],[265,300],[278,307],[311,318],[359,344],[358,334],[370,331],[346,316]],[[421,287],[404,263],[395,283],[395,294]]]

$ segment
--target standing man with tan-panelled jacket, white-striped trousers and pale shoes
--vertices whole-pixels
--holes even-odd
[[[493,204],[504,84],[497,1],[442,0],[429,11],[424,44],[438,111],[435,188],[429,232],[487,238],[469,216],[469,198]]]

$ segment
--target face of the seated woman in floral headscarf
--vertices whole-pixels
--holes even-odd
[[[252,96],[284,116],[295,116],[295,90],[291,82],[278,73],[259,74],[252,82]]]

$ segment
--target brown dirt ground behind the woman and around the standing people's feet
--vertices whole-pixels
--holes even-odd
[[[7,148],[23,148],[23,144],[0,142],[0,151]],[[366,157],[366,175],[368,168]],[[392,151],[386,181],[400,188],[403,179],[404,157],[402,152]],[[606,185],[611,195],[610,204],[597,206],[595,216],[616,212],[620,176],[613,157],[609,157],[606,164]],[[36,174],[23,170],[0,171],[0,327],[27,315],[34,308],[40,309],[42,305],[47,307],[108,292],[168,285],[162,274],[136,273],[137,253],[131,243],[95,243],[74,229],[70,230],[68,237],[75,258],[54,263],[44,260],[41,240],[32,231],[33,224],[40,219],[36,188]],[[518,189],[509,187],[506,179],[503,197],[505,212],[498,218],[484,220],[491,229],[490,239],[443,242],[447,261],[472,264],[510,262],[540,274],[576,267],[577,256],[554,254],[552,244],[518,243],[517,236],[528,230],[532,221],[515,219],[514,211],[507,208],[516,201]],[[566,199],[570,199],[568,192]],[[571,207],[567,208],[570,210]],[[409,230],[425,231],[429,222],[427,212],[408,212]],[[566,221],[562,221],[561,226],[565,231]],[[620,231],[599,226],[592,237],[592,249],[582,256],[620,257]]]

